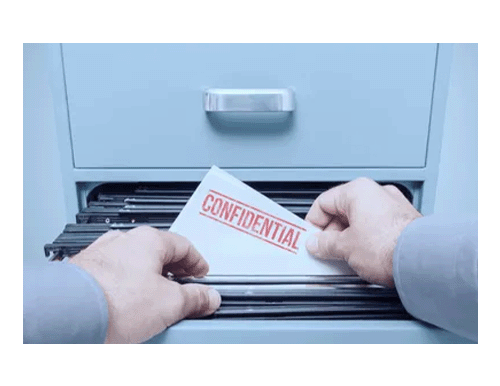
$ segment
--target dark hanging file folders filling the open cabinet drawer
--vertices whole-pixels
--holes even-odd
[[[314,199],[331,187],[327,182],[249,182],[272,200],[304,217]],[[107,183],[92,189],[76,223],[66,225],[45,246],[51,259],[70,258],[110,229],[128,230],[147,224],[168,230],[197,183]],[[413,193],[397,184],[412,201]],[[397,292],[370,285],[357,276],[207,275],[199,282],[222,295],[221,308],[210,319],[379,320],[411,319]]]

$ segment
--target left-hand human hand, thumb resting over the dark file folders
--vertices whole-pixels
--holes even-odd
[[[105,343],[140,343],[184,318],[219,308],[219,293],[162,276],[201,277],[208,263],[184,237],[148,226],[110,231],[70,259],[101,285],[108,302]]]

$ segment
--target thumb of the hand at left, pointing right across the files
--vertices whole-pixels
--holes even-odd
[[[202,284],[180,284],[178,320],[213,314],[220,307],[221,296],[213,288]]]

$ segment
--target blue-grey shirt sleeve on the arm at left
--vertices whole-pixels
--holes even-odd
[[[104,342],[107,302],[90,274],[53,262],[23,275],[23,343]]]

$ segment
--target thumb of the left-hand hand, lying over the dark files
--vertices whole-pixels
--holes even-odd
[[[167,316],[174,323],[185,318],[198,318],[213,314],[221,305],[221,296],[203,284],[169,283],[175,288],[175,299],[167,304]],[[173,287],[172,287],[173,286]],[[172,293],[171,293],[172,294]],[[173,319],[173,320],[172,320]]]

